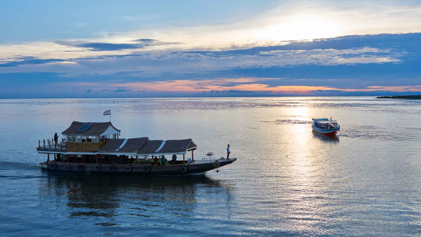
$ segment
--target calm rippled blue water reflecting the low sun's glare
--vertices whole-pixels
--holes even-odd
[[[0,236],[419,236],[421,101],[363,97],[0,100]],[[41,171],[75,121],[192,138],[238,160],[187,176]],[[336,139],[311,118],[337,119]],[[187,156],[189,157],[189,156]]]

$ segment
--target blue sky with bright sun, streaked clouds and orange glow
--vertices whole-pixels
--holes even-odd
[[[0,6],[0,98],[421,94],[421,0]]]

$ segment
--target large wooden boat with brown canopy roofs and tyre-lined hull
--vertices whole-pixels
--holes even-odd
[[[237,159],[194,159],[197,145],[192,139],[149,140],[148,137],[119,138],[120,130],[111,122],[83,123],[73,121],[61,133],[60,143],[38,141],[37,151],[47,154],[41,168],[63,172],[136,173],[142,175],[184,175],[218,170]],[[186,154],[191,156],[186,158]],[[182,160],[167,160],[173,155]],[[51,157],[50,157],[51,156]]]

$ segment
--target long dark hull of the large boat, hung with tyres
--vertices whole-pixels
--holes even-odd
[[[237,159],[218,160],[220,167],[231,164]],[[92,172],[109,174],[136,174],[136,175],[187,175],[193,173],[203,173],[216,169],[213,162],[204,163],[197,161],[190,164],[158,165],[151,166],[147,164],[97,164],[90,163],[67,163],[67,162],[42,162],[41,168],[59,172]],[[128,168],[128,166],[130,168]],[[113,168],[112,168],[113,167]]]

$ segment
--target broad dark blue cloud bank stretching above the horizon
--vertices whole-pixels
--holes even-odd
[[[0,67],[0,82],[13,91],[19,89],[16,81],[32,83],[36,78],[34,87],[67,82],[67,87],[78,87],[74,93],[87,87],[90,94],[130,96],[150,91],[209,96],[417,92],[420,41],[421,33],[350,35],[237,50],[116,51],[59,60],[18,55],[0,59],[8,64]]]

